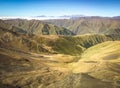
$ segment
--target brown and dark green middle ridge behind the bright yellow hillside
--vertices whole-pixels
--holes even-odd
[[[119,40],[119,35],[82,35],[82,36],[55,36],[55,35],[26,35],[1,28],[1,47],[22,49],[36,53],[60,53],[80,55],[86,48],[105,41]]]

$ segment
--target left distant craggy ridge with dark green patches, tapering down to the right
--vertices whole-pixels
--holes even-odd
[[[73,35],[73,33],[64,28],[53,24],[48,24],[39,20],[0,20],[0,27],[12,30],[14,32],[41,34],[41,35]]]

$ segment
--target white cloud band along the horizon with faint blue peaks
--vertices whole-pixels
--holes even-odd
[[[120,19],[120,16],[85,16],[85,15],[62,15],[62,16],[46,16],[46,15],[39,15],[39,16],[26,16],[26,17],[0,17],[2,20],[9,20],[9,19],[27,19],[27,20],[56,20],[56,19],[80,19],[80,18],[106,18],[106,19]]]

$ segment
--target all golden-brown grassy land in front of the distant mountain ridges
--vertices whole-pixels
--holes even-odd
[[[1,87],[117,87],[116,83],[118,83],[120,78],[120,64],[118,63],[120,43],[111,41],[98,44],[108,40],[114,40],[114,37],[105,35],[74,37],[55,35],[29,36],[19,33],[16,34],[6,29],[3,30],[0,30],[2,33],[0,36]],[[83,53],[85,48],[88,49]],[[68,55],[80,55],[83,53],[81,56],[83,59],[79,62],[71,63],[75,57],[57,54],[52,56],[51,54],[53,53]],[[100,58],[97,59],[96,57]],[[111,57],[115,57],[116,59]],[[104,61],[100,62],[101,60]],[[69,63],[67,64],[66,62]],[[74,73],[67,73],[71,71]],[[80,72],[84,72],[85,74],[80,74]],[[90,83],[88,84],[89,87],[86,83]]]

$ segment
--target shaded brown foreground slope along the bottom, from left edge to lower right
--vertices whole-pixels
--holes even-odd
[[[57,60],[58,57],[52,58]],[[67,69],[64,71],[55,70],[48,63],[59,66],[61,69],[65,65],[54,62],[49,55],[24,52],[7,53],[7,51],[1,52],[0,50],[0,87],[97,88],[99,86],[99,88],[113,88],[110,82],[94,78],[87,73],[75,74]],[[61,64],[61,66],[56,64]]]

